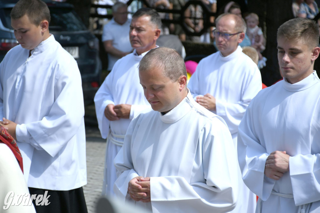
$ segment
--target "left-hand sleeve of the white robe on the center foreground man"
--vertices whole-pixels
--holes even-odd
[[[124,138],[124,145],[115,157],[114,164],[116,167],[117,179],[113,187],[113,191],[116,196],[125,201],[128,193],[129,181],[134,177],[138,177],[138,173],[133,168],[133,162],[131,157],[131,139],[133,133],[133,121],[130,122],[127,133]],[[130,198],[130,197],[128,197]],[[131,198],[130,198],[131,199]]]

